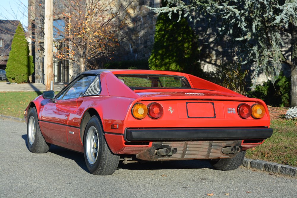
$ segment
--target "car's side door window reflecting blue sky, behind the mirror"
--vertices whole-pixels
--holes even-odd
[[[78,98],[79,96],[83,95],[86,88],[89,86],[89,84],[92,82],[92,80],[96,76],[85,76],[78,81],[76,81],[72,87],[67,89],[65,94],[61,94],[57,100],[66,100],[70,98]]]

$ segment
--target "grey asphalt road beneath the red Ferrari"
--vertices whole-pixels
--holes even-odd
[[[208,162],[122,165],[110,176],[88,172],[83,154],[51,146],[33,154],[26,124],[0,119],[0,197],[296,197],[297,179]],[[229,194],[229,195],[225,195]]]

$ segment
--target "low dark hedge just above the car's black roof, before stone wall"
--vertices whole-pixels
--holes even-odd
[[[149,69],[147,60],[127,60],[109,62],[104,65],[106,69]]]

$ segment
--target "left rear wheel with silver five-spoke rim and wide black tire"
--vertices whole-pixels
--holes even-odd
[[[83,148],[87,168],[92,174],[111,175],[116,171],[120,156],[108,148],[97,116],[92,116],[86,126]]]

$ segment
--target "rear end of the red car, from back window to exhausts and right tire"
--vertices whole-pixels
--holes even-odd
[[[233,170],[247,149],[272,135],[261,100],[187,74],[113,74],[139,96],[121,136],[116,130],[105,134],[115,154],[148,161],[209,159],[219,170]]]

